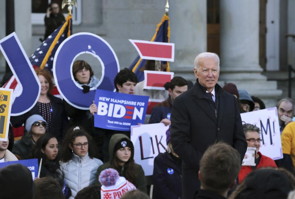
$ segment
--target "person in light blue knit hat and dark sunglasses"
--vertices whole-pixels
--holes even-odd
[[[12,153],[17,154],[22,160],[28,159],[39,137],[46,132],[46,126],[47,123],[41,115],[30,116],[26,120],[26,131],[28,133],[14,143]]]

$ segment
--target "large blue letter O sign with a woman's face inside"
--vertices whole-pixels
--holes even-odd
[[[75,58],[88,53],[100,60],[102,77],[96,85],[97,89],[114,91],[114,78],[120,70],[118,58],[108,42],[92,33],[76,33],[66,38],[58,47],[53,63],[55,84],[62,97],[78,109],[89,109],[95,97],[96,87],[83,93],[72,73]]]

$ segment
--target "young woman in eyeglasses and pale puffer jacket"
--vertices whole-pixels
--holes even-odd
[[[102,161],[94,158],[95,145],[82,128],[70,128],[62,143],[60,170],[74,199],[78,191],[94,184],[96,170]]]

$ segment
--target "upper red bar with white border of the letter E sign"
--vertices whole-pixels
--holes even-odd
[[[174,43],[129,39],[140,58],[174,62]]]

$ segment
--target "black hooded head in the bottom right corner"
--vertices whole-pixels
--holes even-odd
[[[230,199],[287,198],[294,189],[294,177],[288,171],[262,168],[249,173]],[[291,178],[290,178],[291,177]]]

